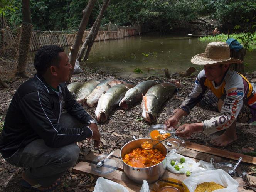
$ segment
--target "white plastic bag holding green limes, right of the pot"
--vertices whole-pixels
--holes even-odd
[[[184,173],[186,174],[187,171],[191,172],[191,173],[199,173],[199,172],[203,172],[203,171],[207,171],[207,170],[212,170],[212,164],[211,163],[207,163],[205,161],[199,161],[199,162],[195,162],[194,160],[192,160],[192,158],[189,157],[184,157],[185,158],[185,162],[180,164],[180,158],[184,157],[183,155],[180,155],[178,153],[175,152],[175,150],[171,150],[168,154],[167,154],[167,169],[170,170],[173,173]],[[175,161],[175,165],[171,165],[171,161]],[[180,170],[177,171],[175,169],[175,166],[178,165]]]

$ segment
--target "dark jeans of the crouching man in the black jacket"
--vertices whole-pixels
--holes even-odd
[[[79,127],[81,123],[67,113],[61,114],[60,124],[65,127]],[[45,145],[37,139],[20,148],[6,161],[17,167],[25,167],[25,175],[42,186],[52,185],[61,175],[76,164],[80,148],[76,143],[58,148]]]

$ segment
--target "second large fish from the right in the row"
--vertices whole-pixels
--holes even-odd
[[[143,81],[137,84],[125,93],[125,97],[120,101],[119,107],[121,109],[131,108],[135,103],[142,100],[143,95],[147,93],[149,88],[156,84],[159,84],[159,82],[153,80]]]

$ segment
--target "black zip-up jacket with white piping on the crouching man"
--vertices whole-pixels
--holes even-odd
[[[59,85],[67,113],[86,124],[91,116],[72,98],[66,83]],[[43,139],[49,147],[56,148],[82,141],[92,136],[88,127],[68,128],[59,124],[60,100],[56,92],[36,74],[23,83],[10,103],[2,135],[0,152],[3,158],[11,157],[19,148],[31,141]]]

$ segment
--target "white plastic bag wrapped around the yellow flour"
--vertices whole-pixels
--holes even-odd
[[[237,192],[238,182],[222,169],[210,170],[201,173],[191,174],[183,183],[189,189],[189,192],[194,192],[197,185],[204,182],[215,182],[216,184],[226,187],[217,189],[214,192]]]

